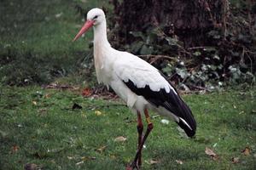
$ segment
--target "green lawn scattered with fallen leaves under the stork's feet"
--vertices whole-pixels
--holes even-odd
[[[135,155],[136,116],[118,100],[38,87],[2,86],[0,93],[0,169],[23,169],[26,163],[43,169],[125,169]],[[255,87],[183,96],[198,123],[196,138],[186,139],[176,123],[154,118],[143,169],[255,169],[255,97]],[[83,109],[72,110],[73,104]],[[114,142],[118,136],[127,140]],[[205,154],[206,147],[218,161]],[[248,156],[241,153],[246,147]],[[150,160],[160,162],[149,165]]]

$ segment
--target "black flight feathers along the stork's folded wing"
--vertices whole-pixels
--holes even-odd
[[[143,96],[148,100],[149,103],[155,105],[156,107],[165,107],[166,110],[171,111],[176,116],[182,118],[189,124],[189,127],[191,128],[189,128],[182,120],[177,122],[177,124],[183,128],[189,137],[195,135],[195,118],[190,111],[189,106],[185,104],[183,99],[181,99],[181,97],[177,94],[177,91],[176,94],[172,89],[170,89],[169,93],[166,93],[165,88],[160,88],[160,91],[153,91],[150,89],[149,85],[146,85],[145,88],[137,88],[135,83],[131,82],[131,80],[128,80],[128,82],[123,82],[128,88],[131,89],[133,93]],[[170,85],[172,86],[172,84]],[[173,89],[176,90],[175,88]]]

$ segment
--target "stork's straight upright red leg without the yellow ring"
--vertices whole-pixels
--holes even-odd
[[[143,121],[142,121],[141,113],[139,111],[137,111],[137,133],[138,133],[137,150],[139,150],[139,147],[143,141]],[[142,151],[143,150],[140,150],[140,153],[138,156],[138,160],[137,160],[138,167],[141,167],[142,165]]]

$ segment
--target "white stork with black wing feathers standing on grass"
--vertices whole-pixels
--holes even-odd
[[[90,9],[84,26],[73,41],[81,37],[90,27],[93,27],[94,30],[94,62],[97,81],[105,84],[108,88],[111,87],[137,114],[137,153],[126,169],[139,169],[142,165],[143,144],[153,129],[148,110],[171,118],[177,122],[179,127],[183,128],[189,137],[194,136],[195,118],[189,106],[184,103],[180,95],[177,94],[177,90],[163,74],[136,55],[111,47],[107,38],[107,22],[102,9]],[[142,113],[148,123],[144,135]]]

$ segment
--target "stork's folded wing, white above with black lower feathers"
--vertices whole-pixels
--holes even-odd
[[[117,59],[115,74],[139,96],[156,107],[164,107],[179,118],[177,122],[189,136],[195,134],[195,119],[188,105],[177,94],[172,84],[154,66],[137,56],[125,53]]]

